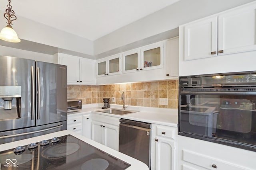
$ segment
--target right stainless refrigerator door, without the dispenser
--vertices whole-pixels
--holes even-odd
[[[36,125],[67,120],[67,66],[36,61]]]

